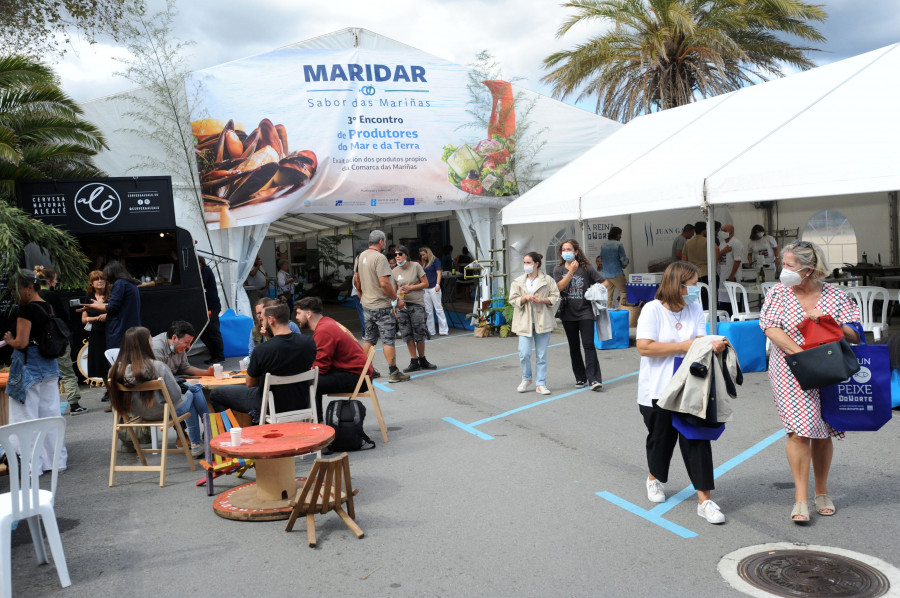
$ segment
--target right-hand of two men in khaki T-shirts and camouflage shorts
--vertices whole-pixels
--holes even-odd
[[[409,250],[405,245],[398,245],[394,250],[397,267],[391,271],[397,296],[402,297],[406,305],[397,309],[397,324],[400,335],[406,341],[409,350],[409,367],[406,373],[419,370],[435,370],[437,366],[425,358],[425,289],[428,288],[428,277],[422,264],[409,259]]]

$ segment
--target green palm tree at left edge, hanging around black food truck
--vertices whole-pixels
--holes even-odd
[[[105,176],[93,157],[106,142],[81,114],[50,68],[0,57],[0,272],[17,267],[25,245],[35,242],[52,256],[60,282],[80,286],[86,278],[74,237],[13,207],[16,181]]]

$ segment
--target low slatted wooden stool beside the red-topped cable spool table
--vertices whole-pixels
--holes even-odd
[[[347,453],[328,459],[316,459],[306,483],[291,501],[293,510],[284,531],[294,529],[297,517],[306,515],[306,538],[309,546],[315,548],[316,521],[313,515],[334,511],[357,538],[362,538],[363,531],[354,521],[356,513],[353,509],[353,497],[358,493],[359,490],[353,488],[350,482],[350,458]],[[347,511],[341,507],[344,503],[347,503]]]

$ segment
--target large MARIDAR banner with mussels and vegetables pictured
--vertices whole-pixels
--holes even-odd
[[[518,193],[512,89],[485,81],[470,126],[467,70],[425,53],[282,49],[192,75],[209,228],[286,213],[501,207]]]

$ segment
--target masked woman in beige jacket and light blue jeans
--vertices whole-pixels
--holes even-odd
[[[509,302],[515,308],[512,331],[519,337],[519,364],[522,366],[522,382],[519,392],[528,390],[531,377],[531,346],[535,354],[535,390],[548,395],[547,346],[550,333],[556,325],[553,308],[559,301],[556,281],[541,272],[544,256],[532,251],[522,259],[525,274],[516,278],[509,290]]]

